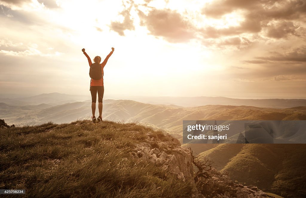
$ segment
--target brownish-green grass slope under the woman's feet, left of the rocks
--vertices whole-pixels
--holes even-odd
[[[192,185],[130,157],[152,131],[87,120],[0,129],[0,188],[26,197],[189,197]]]

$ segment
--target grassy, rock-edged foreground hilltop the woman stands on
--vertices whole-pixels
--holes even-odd
[[[208,186],[196,183],[190,152],[137,123],[48,122],[0,135],[0,188],[25,197],[267,197],[215,169],[201,178]]]

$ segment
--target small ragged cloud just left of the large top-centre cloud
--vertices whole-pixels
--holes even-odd
[[[125,10],[120,12],[120,15],[124,17],[123,22],[112,21],[110,23],[110,29],[117,32],[120,36],[124,36],[124,30],[134,30],[135,26],[133,24],[133,20],[131,19],[130,11],[132,9],[133,4],[131,4],[128,8],[123,4]]]

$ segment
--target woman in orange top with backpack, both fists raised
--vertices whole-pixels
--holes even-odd
[[[88,63],[89,63],[89,67],[92,65],[91,59],[89,58],[88,54],[85,52],[85,49],[82,49],[84,55],[87,57],[88,59]],[[110,58],[110,56],[113,54],[114,52],[114,48],[112,48],[112,51],[106,56],[106,58],[104,59],[104,61],[100,64],[101,62],[101,57],[100,56],[96,56],[94,58],[94,62],[95,63],[99,63],[101,66],[101,70],[102,70],[102,78],[99,80],[94,80],[91,79],[90,81],[90,93],[91,93],[91,111],[92,111],[92,121],[96,122],[98,120],[98,122],[102,121],[102,109],[103,109],[103,95],[104,95],[104,84],[103,84],[103,68],[106,65],[107,60]],[[98,109],[99,109],[99,117],[98,119],[96,119],[95,117],[95,107],[96,107],[96,101],[97,101],[97,93],[98,93]]]

